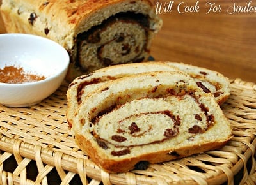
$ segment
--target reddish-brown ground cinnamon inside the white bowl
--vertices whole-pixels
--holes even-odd
[[[27,73],[22,67],[5,66],[0,69],[0,82],[8,84],[22,84],[44,80],[44,76]]]

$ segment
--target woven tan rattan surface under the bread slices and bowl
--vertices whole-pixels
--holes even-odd
[[[40,104],[0,105],[0,184],[256,184],[256,85],[232,80],[221,106],[234,137],[225,147],[108,174],[77,148],[66,121],[67,83]]]

